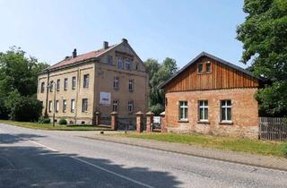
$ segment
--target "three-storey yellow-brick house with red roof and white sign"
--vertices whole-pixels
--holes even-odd
[[[49,66],[39,74],[37,98],[42,101],[43,115],[68,124],[93,124],[98,111],[109,118],[128,119],[147,109],[148,76],[143,61],[126,38],[121,43],[83,55],[72,56]]]

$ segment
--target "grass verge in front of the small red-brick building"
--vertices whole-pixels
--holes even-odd
[[[117,134],[129,138],[149,139],[155,141],[168,141],[196,145],[201,147],[243,151],[260,155],[271,155],[277,157],[286,157],[283,152],[283,142],[257,141],[251,139],[239,139],[230,137],[219,137],[203,134],[177,134],[177,133],[135,133]]]

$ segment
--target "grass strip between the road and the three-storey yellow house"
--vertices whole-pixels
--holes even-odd
[[[31,129],[42,129],[42,130],[58,130],[58,131],[109,131],[109,127],[104,126],[93,126],[93,125],[59,125],[55,124],[38,124],[30,122],[15,122],[11,120],[0,120],[0,124],[13,124],[16,126],[22,126]]]

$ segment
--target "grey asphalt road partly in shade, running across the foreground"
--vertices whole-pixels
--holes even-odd
[[[0,187],[287,187],[287,172],[0,124]]]

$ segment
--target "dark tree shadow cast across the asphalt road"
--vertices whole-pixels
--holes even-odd
[[[143,184],[178,187],[181,184],[168,172],[124,167],[106,158],[85,158],[39,147],[12,145],[24,138],[38,137],[36,134],[0,135],[0,143],[11,144],[0,145],[0,187],[145,187]]]

